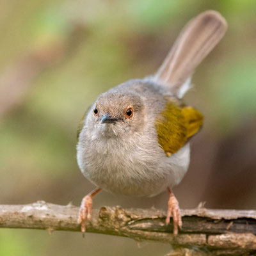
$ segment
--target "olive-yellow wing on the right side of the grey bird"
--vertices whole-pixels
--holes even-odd
[[[158,143],[166,156],[176,153],[193,136],[203,123],[202,114],[191,107],[176,106],[167,102],[156,119]]]

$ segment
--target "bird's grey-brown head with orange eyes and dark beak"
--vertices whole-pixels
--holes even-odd
[[[135,93],[107,92],[101,94],[86,113],[84,126],[93,136],[127,138],[141,131],[145,108]]]

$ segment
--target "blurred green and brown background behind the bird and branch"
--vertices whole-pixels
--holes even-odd
[[[157,70],[180,29],[214,9],[227,35],[185,101],[205,116],[180,207],[256,208],[256,1],[1,0],[0,204],[72,202],[93,189],[76,163],[76,128],[99,93]],[[166,209],[167,193],[101,192],[93,207]],[[99,234],[0,230],[0,255],[164,255],[168,244]]]

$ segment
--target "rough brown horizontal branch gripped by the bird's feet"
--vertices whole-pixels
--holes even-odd
[[[0,227],[79,231],[78,207],[38,201],[27,205],[0,205]],[[165,212],[157,209],[93,209],[86,232],[110,234],[136,239],[171,243],[174,247],[203,248],[212,255],[248,255],[256,253],[256,211],[182,210],[183,227],[173,236],[172,225],[166,227]],[[172,223],[172,221],[171,221]],[[238,254],[237,254],[238,253]],[[209,255],[209,254],[207,254]]]

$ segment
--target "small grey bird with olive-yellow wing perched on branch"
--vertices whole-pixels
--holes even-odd
[[[182,29],[153,76],[132,79],[102,93],[88,108],[77,131],[77,163],[97,186],[84,196],[77,223],[86,230],[92,198],[101,189],[132,196],[155,196],[168,190],[166,225],[182,228],[173,186],[188,170],[189,139],[203,116],[182,97],[191,87],[195,68],[227,30],[220,13],[208,10]]]

